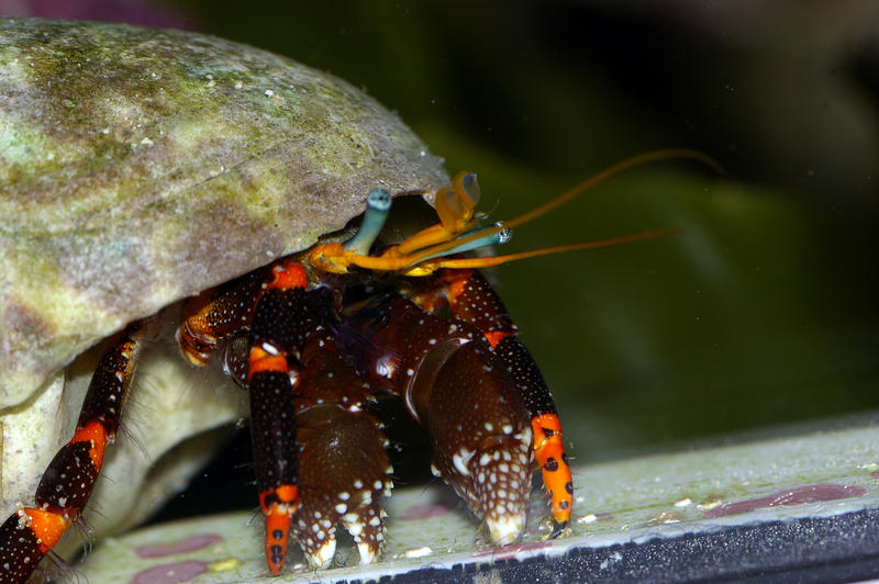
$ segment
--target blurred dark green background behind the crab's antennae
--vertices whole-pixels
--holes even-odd
[[[510,245],[682,229],[500,269],[578,462],[879,407],[875,1],[85,4],[54,15],[208,32],[365,88],[478,171],[498,217],[645,150],[720,160],[630,171]]]

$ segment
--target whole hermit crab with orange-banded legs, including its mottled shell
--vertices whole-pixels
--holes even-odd
[[[555,406],[475,270],[491,261],[459,257],[504,234],[474,212],[474,175],[449,181],[344,81],[210,36],[3,20],[0,71],[0,581],[26,581],[90,507],[99,535],[143,517],[198,462],[151,469],[162,452],[242,408],[270,572],[291,535],[326,565],[338,523],[375,561],[392,486],[380,393],[427,428],[435,472],[492,541],[520,535],[535,460],[560,531]],[[383,239],[391,194],[413,193],[439,223]],[[151,397],[162,368],[191,368],[170,364],[168,321],[190,363],[219,361],[245,392],[210,378]]]

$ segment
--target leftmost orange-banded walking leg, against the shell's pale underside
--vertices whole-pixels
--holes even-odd
[[[82,514],[115,439],[141,349],[143,324],[129,325],[91,378],[74,437],[46,468],[34,499],[0,527],[0,582],[26,582],[37,562]]]

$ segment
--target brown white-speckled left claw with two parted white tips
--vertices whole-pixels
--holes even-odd
[[[364,411],[370,398],[366,386],[325,330],[309,338],[302,364],[296,397],[301,490],[297,539],[311,565],[326,568],[336,548],[335,526],[342,523],[357,543],[360,563],[372,563],[385,539],[380,499],[392,487],[388,439]]]

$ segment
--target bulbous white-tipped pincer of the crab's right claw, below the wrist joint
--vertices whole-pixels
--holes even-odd
[[[486,521],[493,543],[512,543],[531,493],[527,409],[487,342],[447,349],[425,357],[409,403],[431,436],[434,472]]]

